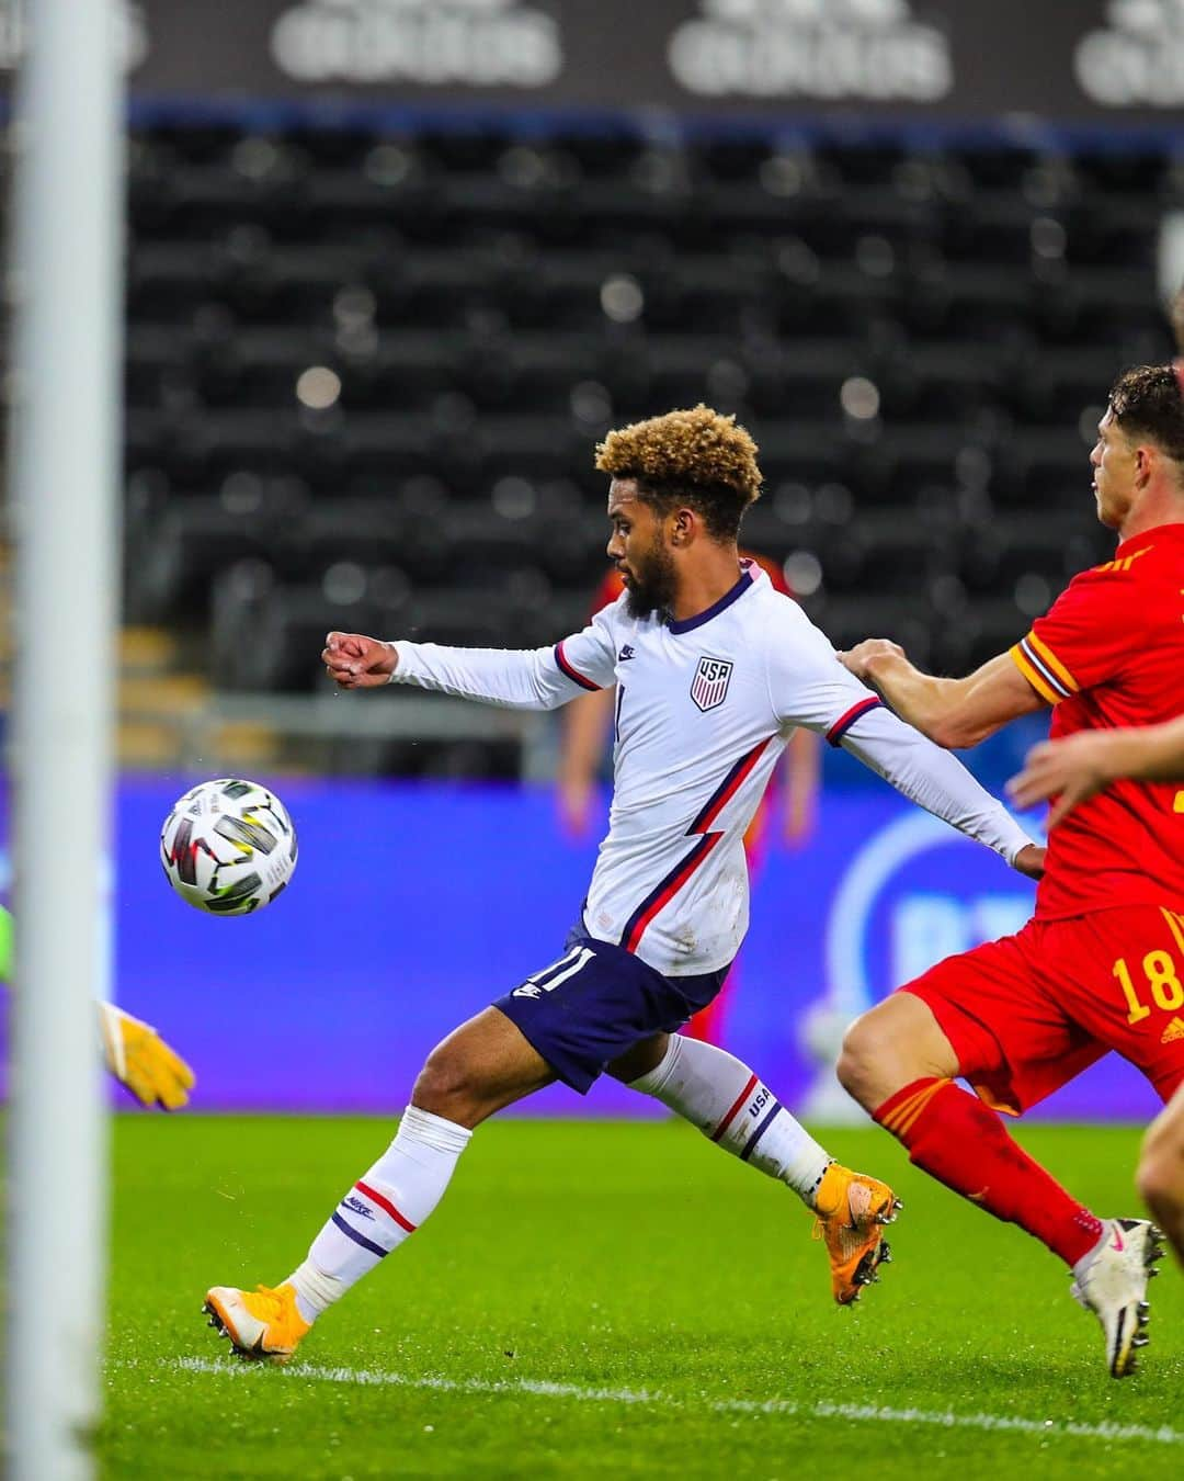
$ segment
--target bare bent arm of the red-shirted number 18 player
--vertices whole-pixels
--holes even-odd
[[[965,678],[937,678],[913,668],[898,643],[867,638],[839,653],[844,666],[881,693],[892,709],[946,749],[965,749],[1045,701],[1009,653],[999,653]]]

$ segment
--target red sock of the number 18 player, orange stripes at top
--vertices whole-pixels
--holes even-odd
[[[1018,1223],[1076,1265],[1101,1238],[1095,1219],[1018,1146],[995,1111],[952,1080],[915,1080],[875,1112],[909,1161],[996,1219]]]

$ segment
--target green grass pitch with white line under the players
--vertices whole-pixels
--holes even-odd
[[[391,1130],[117,1118],[105,1477],[1184,1475],[1181,1272],[1114,1382],[1060,1263],[873,1129],[826,1137],[906,1204],[855,1309],[796,1198],[690,1127],[503,1121],[300,1364],[232,1363],[204,1288],[286,1275]],[[1135,1131],[1023,1136],[1137,1211]]]

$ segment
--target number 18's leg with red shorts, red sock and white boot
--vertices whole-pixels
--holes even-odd
[[[1114,1377],[1146,1343],[1147,1280],[1160,1250],[1140,1219],[1098,1219],[1003,1130],[998,1114],[953,1084],[965,1075],[992,1105],[1021,1111],[1104,1052],[1043,992],[1033,963],[1069,957],[1033,923],[925,973],[858,1019],[839,1078],[947,1188],[1017,1223],[1073,1271],[1072,1294],[1106,1336]]]

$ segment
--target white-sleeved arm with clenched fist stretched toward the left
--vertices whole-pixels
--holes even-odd
[[[330,632],[321,661],[342,689],[414,684],[508,709],[555,709],[613,683],[611,640],[596,619],[546,649],[383,643],[360,632]]]

